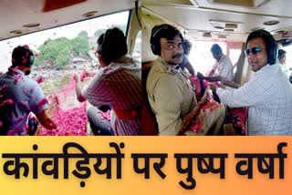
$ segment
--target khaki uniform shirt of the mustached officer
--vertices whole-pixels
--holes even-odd
[[[159,56],[147,77],[146,89],[160,135],[177,135],[182,118],[197,103],[188,76]]]

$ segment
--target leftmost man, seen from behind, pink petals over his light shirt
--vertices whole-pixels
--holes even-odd
[[[36,81],[26,77],[34,64],[28,46],[17,46],[12,53],[12,66],[0,77],[0,135],[27,135],[30,112],[47,129],[57,128],[47,115],[47,99]]]

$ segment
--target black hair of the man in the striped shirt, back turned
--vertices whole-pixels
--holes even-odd
[[[127,40],[118,27],[109,28],[99,36],[99,55],[107,63],[120,58],[128,53]]]

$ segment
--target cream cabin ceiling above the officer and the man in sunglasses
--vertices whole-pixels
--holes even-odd
[[[245,42],[257,28],[281,39],[283,31],[292,30],[290,0],[143,0],[142,7],[148,16],[156,15],[183,27],[192,39]],[[264,25],[267,21],[278,24]]]

